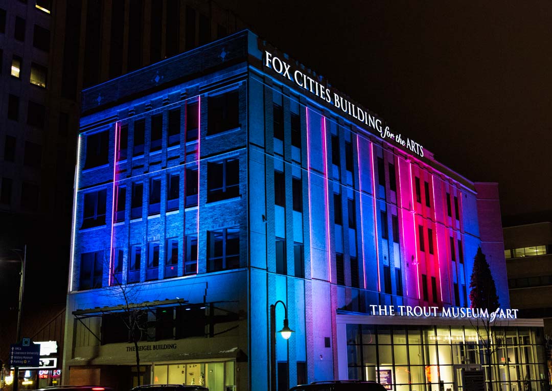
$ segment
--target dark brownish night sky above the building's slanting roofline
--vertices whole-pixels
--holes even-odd
[[[217,0],[471,181],[552,219],[552,2]]]

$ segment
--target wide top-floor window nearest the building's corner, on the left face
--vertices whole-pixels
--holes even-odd
[[[218,134],[240,126],[238,91],[209,97],[207,134]]]

